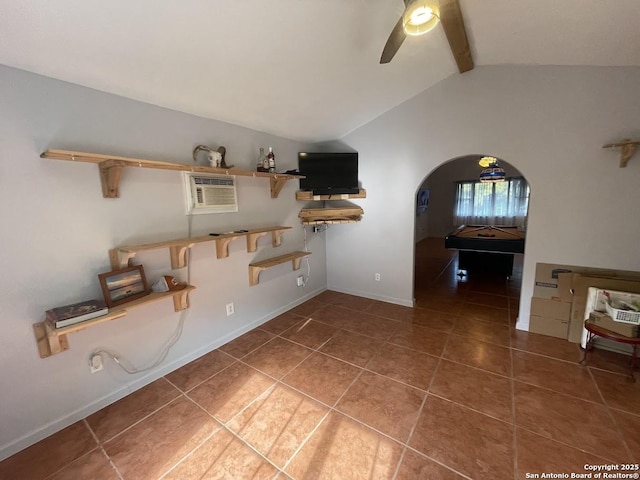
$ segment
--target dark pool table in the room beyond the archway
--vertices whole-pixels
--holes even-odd
[[[513,256],[524,253],[525,234],[518,227],[462,225],[444,239],[445,248],[455,248],[458,268],[495,272],[510,277]]]

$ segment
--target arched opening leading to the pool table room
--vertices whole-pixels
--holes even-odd
[[[520,303],[529,185],[502,159],[505,180],[480,182],[482,157],[443,163],[416,191],[414,298],[417,307],[470,321],[504,319],[512,326]],[[461,243],[457,236],[464,237]]]

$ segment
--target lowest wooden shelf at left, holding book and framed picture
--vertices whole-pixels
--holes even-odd
[[[132,308],[146,305],[148,303],[156,302],[164,298],[173,297],[173,307],[176,312],[189,308],[189,293],[195,290],[196,287],[187,285],[182,290],[175,290],[162,293],[151,293],[137,300],[133,300],[122,306],[112,308],[109,313],[100,317],[92,318],[85,322],[68,325],[62,328],[53,328],[49,322],[42,321],[33,325],[33,331],[38,342],[38,352],[40,358],[47,358],[51,355],[63,352],[69,349],[69,339],[67,335],[69,333],[78,332],[85,328],[98,325],[99,323],[109,322],[116,318],[121,318],[127,315],[128,311]]]

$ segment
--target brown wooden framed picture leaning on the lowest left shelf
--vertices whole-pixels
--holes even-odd
[[[98,275],[107,307],[115,307],[151,293],[142,265]]]

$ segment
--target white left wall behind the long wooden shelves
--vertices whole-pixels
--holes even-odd
[[[97,275],[110,270],[117,245],[188,236],[181,174],[126,169],[121,198],[102,197],[98,168],[39,158],[47,148],[190,163],[198,144],[227,147],[227,162],[252,170],[260,146],[273,146],[279,170],[297,166],[307,145],[229,124],[204,120],[18,70],[0,67],[0,459],[92,413],[326,286],[324,235],[309,236],[311,279],[297,288],[290,263],[263,272],[249,287],[247,265],[303,248],[297,218],[297,181],[271,199],[264,179],[238,177],[239,212],[193,218],[193,235],[239,228],[289,225],[283,245],[270,236],[248,254],[244,239],[216,259],[215,244],[192,251],[191,308],[184,332],[165,362],[129,376],[111,361],[89,373],[90,353],[103,347],[137,367],[155,360],[178,325],[170,299],[132,310],[122,319],[69,335],[70,350],[40,359],[32,324],[58,305],[99,298]],[[150,281],[171,273],[169,251],[139,254]],[[303,266],[305,264],[303,263]],[[226,317],[225,304],[235,303]]]

